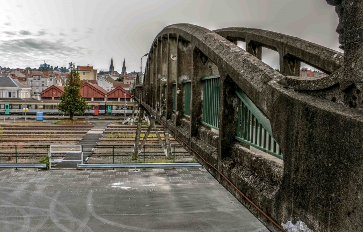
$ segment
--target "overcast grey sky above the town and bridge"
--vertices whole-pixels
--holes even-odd
[[[261,28],[342,52],[338,16],[325,0],[1,0],[0,66],[73,61],[108,71],[113,56],[115,70],[125,58],[128,72],[139,71],[155,36],[174,23]],[[279,68],[276,53],[262,57]]]

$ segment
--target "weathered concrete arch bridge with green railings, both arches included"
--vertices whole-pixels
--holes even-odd
[[[261,61],[262,47],[278,52],[280,72]],[[363,114],[344,58],[271,31],[175,24],[152,43],[134,96],[271,231],[356,231]],[[300,62],[329,76],[297,77]]]

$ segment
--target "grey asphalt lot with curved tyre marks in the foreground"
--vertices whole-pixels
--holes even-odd
[[[1,232],[268,232],[205,169],[0,169]]]

